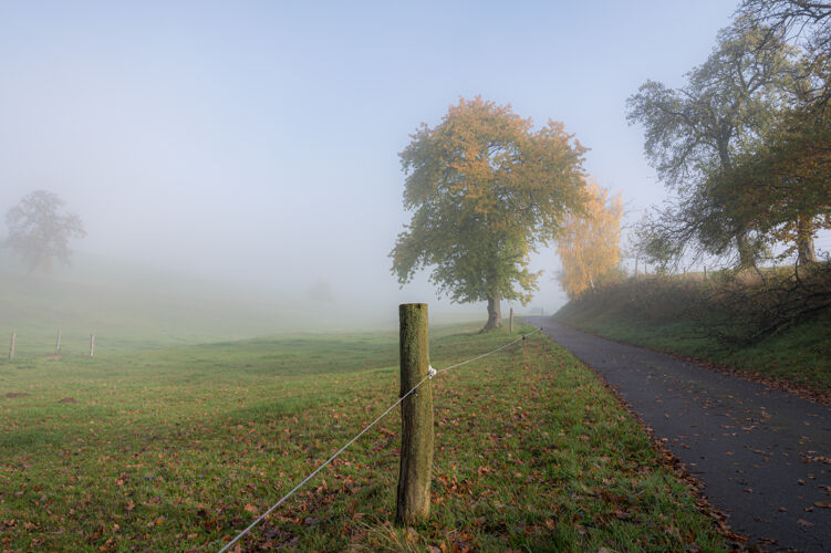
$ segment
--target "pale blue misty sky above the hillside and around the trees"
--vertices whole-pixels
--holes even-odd
[[[665,196],[625,122],[646,79],[679,86],[731,0],[0,3],[0,212],[67,200],[79,250],[268,285],[398,290],[397,154],[458,96],[562,121],[632,218]],[[552,250],[532,303],[563,302]],[[484,309],[482,309],[484,312]]]

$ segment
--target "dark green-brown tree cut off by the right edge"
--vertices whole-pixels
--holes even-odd
[[[797,46],[800,63],[780,123],[740,164],[714,175],[710,186],[741,191],[744,205],[734,209],[790,242],[786,253],[796,250],[800,264],[811,263],[817,261],[813,237],[831,218],[831,2],[745,0],[740,12],[754,13],[749,21],[764,21],[769,35]]]

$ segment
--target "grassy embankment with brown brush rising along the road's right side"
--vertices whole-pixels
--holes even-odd
[[[697,290],[706,286],[713,284],[702,274],[640,276],[585,294],[563,306],[554,319],[620,342],[793,383],[820,394],[831,392],[831,313],[817,314],[752,344],[729,344],[696,320],[706,305]],[[713,306],[711,316],[742,324],[733,313],[720,312],[718,305]]]

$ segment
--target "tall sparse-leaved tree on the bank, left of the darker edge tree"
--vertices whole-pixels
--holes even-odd
[[[740,267],[755,263],[759,237],[744,218],[718,211],[707,184],[714,173],[730,170],[776,123],[793,63],[781,36],[739,21],[719,32],[715,50],[687,74],[685,86],[647,81],[629,98],[629,122],[644,126],[646,157],[675,195],[644,232],[657,251],[733,250]]]

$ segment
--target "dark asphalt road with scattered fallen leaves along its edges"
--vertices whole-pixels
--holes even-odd
[[[831,408],[549,319],[528,322],[619,390],[735,532],[771,550],[831,551]]]

